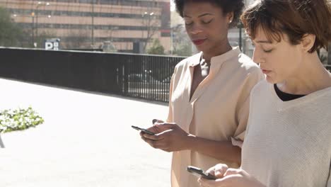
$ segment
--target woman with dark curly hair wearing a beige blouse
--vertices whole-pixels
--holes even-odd
[[[257,64],[228,42],[243,0],[176,0],[197,55],[182,60],[170,83],[168,119],[154,123],[141,138],[173,152],[173,187],[198,186],[187,166],[208,169],[219,162],[240,166],[240,147],[248,120],[249,94],[264,79]]]

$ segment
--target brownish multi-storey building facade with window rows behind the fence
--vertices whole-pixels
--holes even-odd
[[[170,50],[169,0],[0,0],[0,6],[35,47],[59,38],[60,49],[143,53],[157,38]]]

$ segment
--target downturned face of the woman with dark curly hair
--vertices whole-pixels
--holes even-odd
[[[228,45],[232,13],[223,15],[222,8],[209,2],[187,2],[182,13],[187,35],[197,50],[218,54]]]

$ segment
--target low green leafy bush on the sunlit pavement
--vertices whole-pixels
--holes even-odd
[[[44,120],[31,107],[4,110],[0,113],[0,132],[25,130],[42,123],[44,123]]]

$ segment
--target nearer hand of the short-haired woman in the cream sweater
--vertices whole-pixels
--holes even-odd
[[[232,168],[227,169],[221,179],[199,178],[198,182],[202,187],[265,187],[243,169]]]

